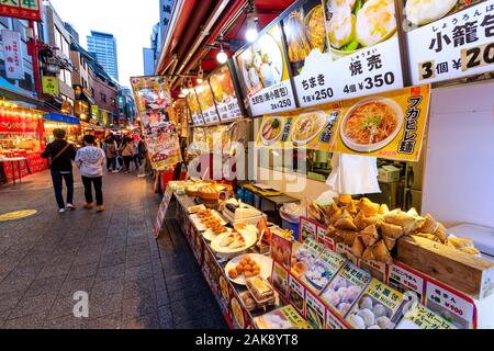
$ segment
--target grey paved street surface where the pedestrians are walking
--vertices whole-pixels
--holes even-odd
[[[0,328],[227,328],[187,242],[173,224],[155,240],[159,204],[150,180],[108,174],[104,213],[59,215],[49,173],[0,186],[0,213],[37,210],[0,223]],[[74,293],[89,294],[76,318]]]

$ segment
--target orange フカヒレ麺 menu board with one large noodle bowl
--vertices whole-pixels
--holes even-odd
[[[418,161],[430,86],[344,101],[334,151]]]

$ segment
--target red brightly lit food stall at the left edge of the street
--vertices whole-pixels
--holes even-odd
[[[0,183],[13,182],[47,169],[41,158],[43,112],[14,102],[0,102]]]

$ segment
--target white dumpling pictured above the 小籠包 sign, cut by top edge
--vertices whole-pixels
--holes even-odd
[[[407,0],[406,18],[415,25],[423,25],[444,18],[458,0]]]

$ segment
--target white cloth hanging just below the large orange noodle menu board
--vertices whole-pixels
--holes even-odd
[[[380,193],[378,182],[378,159],[375,157],[334,154],[333,171],[326,184],[341,194],[372,194]]]

